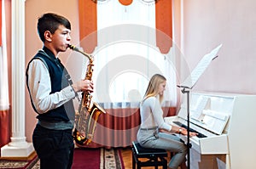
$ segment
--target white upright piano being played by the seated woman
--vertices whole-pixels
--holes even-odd
[[[177,115],[165,121],[187,126],[187,110],[184,94]],[[189,128],[201,133],[189,139],[190,168],[256,168],[256,95],[191,92]]]

